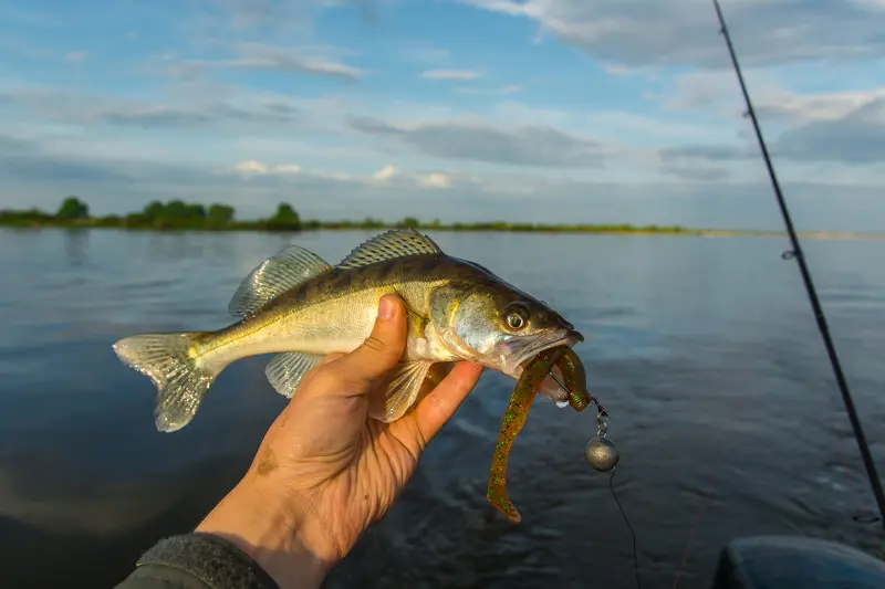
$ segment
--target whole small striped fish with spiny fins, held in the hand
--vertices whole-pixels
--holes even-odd
[[[426,381],[439,379],[440,365],[445,371],[468,360],[519,379],[539,353],[584,340],[542,301],[408,228],[375,235],[335,266],[291,243],[241,282],[228,305],[235,323],[214,332],[132,335],[113,350],[152,380],[155,425],[174,432],[191,422],[218,375],[242,358],[272,354],[266,377],[291,398],[325,355],[363,344],[385,294],[403,301],[407,320],[403,356],[383,393],[369,400],[368,417],[385,423],[415,404]],[[569,404],[552,379],[541,392]]]

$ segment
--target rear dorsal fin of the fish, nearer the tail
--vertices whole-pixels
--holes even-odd
[[[282,293],[331,270],[325,260],[310,250],[294,243],[288,245],[240,283],[228,312],[239,317],[251,315]]]

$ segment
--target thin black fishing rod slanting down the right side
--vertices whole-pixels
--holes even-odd
[[[818,327],[821,330],[821,336],[823,337],[824,345],[826,346],[826,353],[830,356],[830,364],[833,367],[833,374],[836,377],[839,390],[842,393],[842,400],[845,402],[845,410],[848,413],[851,427],[854,430],[854,438],[857,440],[857,446],[861,449],[861,456],[863,457],[864,466],[866,466],[866,474],[870,477],[870,485],[873,487],[873,495],[876,498],[876,504],[878,504],[881,516],[879,522],[882,522],[883,527],[885,527],[885,493],[882,491],[882,481],[876,473],[876,464],[873,462],[873,455],[870,452],[870,444],[866,442],[866,437],[864,435],[861,420],[857,417],[857,410],[854,408],[854,400],[852,399],[851,391],[848,390],[848,385],[845,381],[845,375],[842,372],[842,365],[839,361],[836,348],[833,345],[832,337],[830,337],[830,328],[826,325],[826,317],[823,314],[821,302],[818,299],[818,292],[815,291],[814,284],[811,281],[811,273],[805,265],[805,255],[802,253],[802,248],[799,245],[799,238],[795,234],[795,229],[793,229],[793,221],[790,219],[790,211],[787,209],[787,202],[783,199],[783,193],[781,192],[778,177],[774,175],[774,167],[772,166],[771,158],[768,155],[766,140],[762,138],[762,130],[759,128],[759,120],[756,118],[756,112],[753,111],[753,105],[750,101],[750,94],[747,91],[747,84],[743,82],[743,75],[741,74],[740,65],[738,65],[738,57],[735,54],[735,46],[731,44],[731,35],[728,34],[728,27],[726,25],[726,19],[722,15],[722,9],[719,7],[719,0],[712,0],[712,4],[714,8],[716,8],[716,14],[719,18],[719,24],[721,25],[719,32],[721,32],[726,38],[728,52],[731,55],[731,63],[735,66],[735,73],[738,75],[740,90],[743,93],[743,99],[747,103],[747,114],[753,122],[756,138],[759,140],[759,147],[762,150],[762,157],[764,158],[766,166],[768,167],[768,175],[771,178],[771,185],[774,188],[774,194],[778,197],[778,204],[780,206],[781,213],[783,214],[783,222],[787,225],[788,233],[790,233],[790,241],[792,242],[793,249],[791,252],[784,252],[783,259],[789,260],[790,257],[794,257],[796,262],[799,262],[799,269],[802,272],[802,280],[805,282],[805,290],[808,291],[809,298],[811,299],[811,306],[814,309],[814,317],[818,319]]]

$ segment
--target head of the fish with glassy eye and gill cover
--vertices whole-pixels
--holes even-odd
[[[451,285],[441,294],[435,328],[467,360],[518,379],[541,351],[584,340],[549,305],[503,282]],[[431,305],[433,306],[433,305]]]

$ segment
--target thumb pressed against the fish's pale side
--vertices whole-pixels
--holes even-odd
[[[352,353],[339,358],[329,368],[348,382],[372,382],[396,366],[406,348],[406,314],[403,302],[384,295],[372,334]]]

